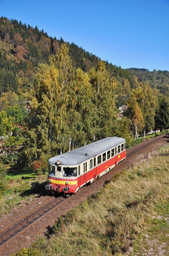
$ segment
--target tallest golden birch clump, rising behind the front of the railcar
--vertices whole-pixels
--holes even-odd
[[[57,154],[68,150],[71,140],[70,88],[73,70],[68,48],[62,45],[50,65],[40,64],[34,77],[31,108],[27,119],[26,154],[31,159],[42,153]]]

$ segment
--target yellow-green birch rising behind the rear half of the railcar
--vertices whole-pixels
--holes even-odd
[[[117,127],[117,109],[115,107],[115,78],[110,78],[105,61],[99,61],[96,68],[89,71],[90,82],[94,90],[92,102],[95,118],[92,127],[96,139],[115,133]]]

